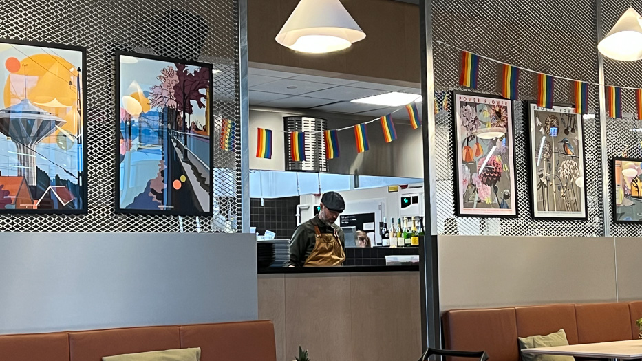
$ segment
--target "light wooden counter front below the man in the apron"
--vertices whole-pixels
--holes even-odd
[[[279,361],[299,345],[312,360],[414,360],[419,292],[418,272],[259,274],[259,319],[275,324]]]

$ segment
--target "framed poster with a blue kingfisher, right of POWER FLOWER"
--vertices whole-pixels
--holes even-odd
[[[528,102],[528,165],[535,219],[587,219],[584,123],[575,107]]]

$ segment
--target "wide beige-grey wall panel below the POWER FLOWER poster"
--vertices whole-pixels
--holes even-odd
[[[616,300],[612,238],[440,236],[438,254],[442,311]]]

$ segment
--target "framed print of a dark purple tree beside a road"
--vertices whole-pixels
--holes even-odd
[[[211,215],[209,64],[116,53],[116,212]]]

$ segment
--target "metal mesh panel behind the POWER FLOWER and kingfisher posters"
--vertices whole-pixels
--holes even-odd
[[[517,67],[597,83],[595,3],[592,1],[449,0],[433,1],[434,39]],[[623,6],[621,9],[625,9]],[[619,14],[617,15],[619,16]],[[437,219],[440,234],[499,234],[597,236],[603,232],[602,170],[599,116],[584,121],[588,221],[533,220],[528,189],[526,142],[528,114],[523,100],[535,99],[535,75],[520,74],[520,101],[513,102],[517,219],[458,218],[454,216],[453,100],[458,85],[460,51],[435,44],[434,74],[438,102],[447,97],[449,111],[436,117]],[[480,61],[478,92],[499,94],[497,64]],[[590,87],[589,110],[598,111],[598,89]],[[555,80],[555,102],[570,104],[570,83]],[[443,91],[443,92],[439,92]],[[562,231],[561,231],[562,230]]]

